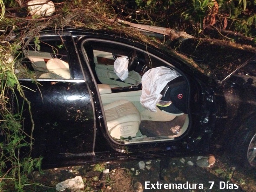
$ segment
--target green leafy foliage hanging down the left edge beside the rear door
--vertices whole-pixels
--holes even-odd
[[[29,154],[21,158],[21,150],[30,149],[33,144],[32,139],[27,139],[32,138],[32,134],[29,136],[23,131],[22,113],[14,112],[10,107],[16,94],[24,96],[14,74],[13,55],[19,47],[19,42],[13,45],[7,41],[0,43],[0,191],[7,188],[9,191],[23,191],[28,185],[27,175],[34,169],[40,170],[42,160],[32,159]],[[17,90],[16,94],[14,90]]]

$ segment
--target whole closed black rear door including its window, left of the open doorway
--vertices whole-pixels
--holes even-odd
[[[43,156],[45,164],[52,166],[92,161],[93,107],[81,70],[77,70],[71,37],[48,34],[37,41],[28,43],[16,66],[16,75],[31,102],[33,123],[22,99],[19,110],[25,116],[26,133],[34,138],[32,156]]]

